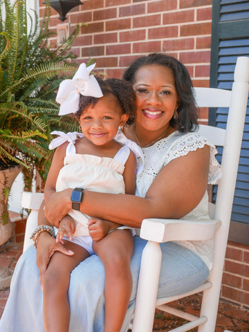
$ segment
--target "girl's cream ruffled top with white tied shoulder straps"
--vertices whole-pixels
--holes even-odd
[[[93,192],[124,194],[125,187],[122,174],[130,151],[133,151],[133,153],[140,158],[138,173],[142,171],[142,150],[135,142],[127,139],[125,136],[119,140],[120,145],[123,146],[120,147],[116,156],[107,158],[76,153],[75,141],[78,138],[84,137],[83,133],[63,133],[62,131],[53,131],[52,133],[58,135],[58,137],[50,142],[50,149],[54,149],[64,142],[68,142],[66,156],[64,158],[64,167],[60,169],[57,177],[55,187],[57,192],[66,188],[82,187],[84,190],[91,190]],[[91,216],[76,210],[71,210],[68,214],[76,222],[76,230],[73,237],[89,236],[87,222]],[[124,229],[127,227],[121,226],[120,228]],[[132,232],[135,234],[133,230]]]

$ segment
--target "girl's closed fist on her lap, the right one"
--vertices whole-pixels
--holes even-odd
[[[110,230],[115,230],[120,226],[119,223],[113,223],[111,221],[91,218],[88,222],[89,234],[93,241],[100,241],[105,237]]]

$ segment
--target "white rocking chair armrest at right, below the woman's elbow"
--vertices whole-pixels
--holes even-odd
[[[163,243],[167,241],[203,241],[214,238],[219,220],[144,219],[140,237]]]

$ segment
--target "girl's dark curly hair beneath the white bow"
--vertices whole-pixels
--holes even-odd
[[[132,124],[136,118],[136,94],[133,91],[132,84],[118,78],[109,78],[107,80],[102,80],[98,76],[95,76],[95,78],[100,85],[103,95],[107,96],[110,93],[114,95],[118,105],[122,109],[122,114],[129,116],[126,124]],[[100,98],[80,95],[79,111],[76,113],[77,118],[80,119],[82,111],[90,106],[94,106],[98,100]]]

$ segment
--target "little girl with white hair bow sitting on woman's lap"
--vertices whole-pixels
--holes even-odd
[[[129,147],[137,156],[142,156],[142,152],[130,140],[125,145],[114,140],[118,128],[131,124],[136,116],[135,96],[128,82],[89,76],[92,68],[81,64],[73,80],[60,84],[56,99],[61,104],[59,115],[75,113],[82,133],[55,131],[59,137],[50,143],[50,149],[58,148],[48,172],[45,198],[55,190],[68,187],[75,190],[71,197],[72,210],[60,222],[56,238],[72,255],[56,251],[41,280],[46,332],[68,332],[67,292],[71,271],[94,253],[100,257],[105,270],[104,332],[120,331],[131,295],[131,230],[90,219],[80,212],[80,202],[84,202],[84,190],[135,193],[136,157]],[[54,235],[53,228],[39,225],[33,233],[35,246],[44,231]]]

